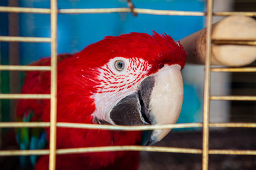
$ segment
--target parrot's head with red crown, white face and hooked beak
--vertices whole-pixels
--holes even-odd
[[[176,123],[183,101],[181,69],[186,53],[169,35],[154,32],[108,36],[85,47],[75,58],[88,68],[85,71],[79,64],[77,69],[87,73],[80,75],[87,84],[93,84],[93,123]],[[90,73],[94,76],[90,77]],[[159,142],[169,131],[153,130],[147,145]]]

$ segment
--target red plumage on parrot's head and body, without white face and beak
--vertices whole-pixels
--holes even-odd
[[[97,72],[114,57],[138,57],[151,64],[152,74],[163,64],[180,64],[183,68],[186,54],[169,35],[130,33],[87,46],[75,55],[58,56],[58,122],[93,123],[95,111],[92,94],[99,85]],[[50,65],[43,58],[33,65]],[[23,84],[23,94],[49,94],[50,72],[28,72]],[[16,115],[22,118],[32,110],[33,121],[50,121],[49,100],[20,100]],[[46,128],[47,137],[49,137]],[[119,132],[109,130],[85,130],[58,128],[57,148],[100,147],[114,145],[139,145],[141,132]],[[96,152],[87,154],[63,154],[57,156],[57,169],[137,169],[138,152]],[[48,169],[48,156],[42,156],[36,169]]]

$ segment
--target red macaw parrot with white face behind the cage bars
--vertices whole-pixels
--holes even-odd
[[[176,123],[183,101],[181,69],[186,53],[169,35],[129,33],[107,36],[74,55],[58,56],[57,121],[110,125]],[[42,58],[32,65],[50,65]],[[50,72],[27,72],[22,94],[50,94]],[[50,100],[22,99],[18,121],[49,122]],[[170,130],[150,131],[147,145]],[[57,128],[57,148],[142,145],[139,131]],[[48,148],[49,128],[19,128],[21,149]],[[48,156],[21,157],[36,170]],[[139,152],[58,154],[56,169],[138,169]]]

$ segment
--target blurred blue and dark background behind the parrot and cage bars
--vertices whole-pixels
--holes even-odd
[[[136,8],[177,11],[206,11],[205,0],[134,0]],[[49,0],[1,0],[0,6],[50,8]],[[128,7],[126,0],[58,0],[58,8],[120,8]],[[255,0],[215,0],[214,11],[256,11]],[[217,22],[221,17],[214,17]],[[174,40],[205,27],[203,16],[156,16],[132,13],[58,14],[58,54],[75,53],[106,35],[130,32],[171,35]],[[33,13],[0,13],[0,35],[50,37],[50,15]],[[29,64],[50,56],[50,43],[0,42],[0,64]],[[256,66],[256,64],[252,64]],[[184,99],[178,123],[203,121],[202,65],[186,64],[182,71]],[[16,94],[21,89],[23,72],[0,72],[2,94]],[[256,95],[254,73],[211,74],[212,95]],[[1,100],[1,121],[14,121],[16,101]],[[211,101],[210,122],[256,122],[255,101]],[[1,148],[15,148],[6,141],[9,130],[1,130]],[[218,128],[210,131],[211,149],[256,149],[255,130]],[[242,140],[241,140],[242,139]],[[159,146],[201,148],[202,129],[172,130]],[[9,160],[9,159],[8,159]],[[17,161],[17,160],[16,160]],[[15,169],[4,165],[0,169]],[[2,164],[1,164],[2,163]],[[209,169],[255,169],[256,157],[211,155]],[[141,169],[201,169],[201,155],[142,152]]]

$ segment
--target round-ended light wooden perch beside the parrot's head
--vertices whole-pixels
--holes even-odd
[[[231,44],[213,44],[212,65],[240,67],[256,60],[256,21],[246,16],[230,16],[213,24],[213,42],[234,40]],[[238,45],[238,41],[251,42],[251,45]],[[230,41],[228,41],[230,42]],[[228,43],[227,42],[227,43]],[[254,44],[254,45],[253,45]],[[206,59],[206,28],[181,40],[188,52],[187,62],[204,64]]]

